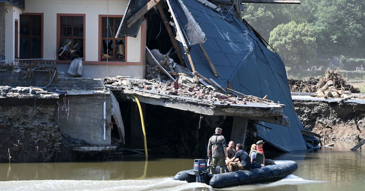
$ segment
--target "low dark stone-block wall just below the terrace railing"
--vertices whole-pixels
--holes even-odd
[[[32,73],[26,71],[14,72],[6,69],[0,69],[0,85],[8,85],[10,87],[45,87],[52,80],[53,73],[48,70],[33,70]],[[88,89],[103,89],[103,80],[94,80],[91,78],[58,78],[55,77],[48,87],[63,87],[63,88],[81,88]]]

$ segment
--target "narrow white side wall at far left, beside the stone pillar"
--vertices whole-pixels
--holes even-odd
[[[18,19],[19,29],[19,15],[22,14],[22,9],[5,5],[5,9],[9,9],[9,12],[5,11],[5,60],[14,60],[15,58],[15,19]],[[19,42],[19,30],[18,30],[18,42]],[[19,46],[18,46],[19,53]]]

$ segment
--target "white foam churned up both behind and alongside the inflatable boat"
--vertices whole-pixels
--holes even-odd
[[[325,181],[306,180],[295,175],[272,183],[244,185],[245,190],[257,190],[258,187],[276,187],[285,184],[324,183]],[[183,191],[194,188],[212,188],[204,183],[187,183],[172,178],[156,178],[144,180],[22,180],[0,182],[0,190],[78,190],[78,191],[113,191],[113,190],[155,190]],[[241,190],[242,186],[231,187],[230,190]]]

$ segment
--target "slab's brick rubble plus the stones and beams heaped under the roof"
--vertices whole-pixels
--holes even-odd
[[[181,100],[205,104],[243,105],[246,102],[268,104],[272,101],[247,96],[221,87],[213,79],[207,79],[198,72],[176,64],[158,50],[146,53],[146,79],[130,79],[123,76],[105,80],[105,87],[122,90],[123,87],[137,87],[152,94],[181,96]],[[111,85],[111,86],[108,86]]]

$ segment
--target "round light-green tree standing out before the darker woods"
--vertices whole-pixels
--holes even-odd
[[[269,43],[285,65],[310,66],[316,60],[316,37],[314,28],[309,23],[279,24],[271,31]]]

